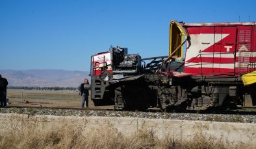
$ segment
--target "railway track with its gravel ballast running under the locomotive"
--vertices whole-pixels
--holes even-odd
[[[53,116],[75,116],[75,117],[135,117],[142,119],[170,119],[170,120],[201,120],[218,122],[245,122],[256,123],[254,111],[230,111],[225,113],[197,113],[195,111],[171,112],[160,111],[159,109],[147,109],[147,111],[118,111],[114,109],[97,108],[60,108],[60,107],[31,107],[31,106],[10,106],[0,108],[0,114],[18,113],[26,114],[28,117],[34,115]]]

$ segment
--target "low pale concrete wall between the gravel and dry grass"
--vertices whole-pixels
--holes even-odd
[[[141,130],[152,132],[159,139],[172,136],[190,140],[196,133],[202,133],[229,143],[256,144],[256,124],[237,122],[203,122],[194,120],[142,119],[127,117],[60,117],[51,115],[0,114],[0,135],[37,128],[57,130],[63,126],[82,128],[84,132],[103,126],[112,127],[123,135],[136,135]]]

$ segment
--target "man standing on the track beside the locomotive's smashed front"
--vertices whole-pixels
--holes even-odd
[[[90,89],[89,81],[87,78],[84,78],[84,83],[79,86],[79,91],[81,93],[80,95],[82,97],[81,108],[84,108],[84,102],[86,104],[86,108],[89,108],[89,104],[88,104],[89,89]]]

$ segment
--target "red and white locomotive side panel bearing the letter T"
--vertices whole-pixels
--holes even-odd
[[[187,27],[185,73],[195,76],[235,75],[236,27]]]

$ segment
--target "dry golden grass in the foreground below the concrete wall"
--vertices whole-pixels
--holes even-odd
[[[233,145],[222,139],[205,137],[196,134],[190,141],[175,139],[175,135],[164,139],[154,137],[153,132],[141,130],[138,134],[125,137],[110,126],[97,127],[85,134],[80,126],[64,126],[59,130],[45,130],[38,128],[28,130],[14,130],[3,137],[0,135],[0,148],[254,148],[251,144]]]

